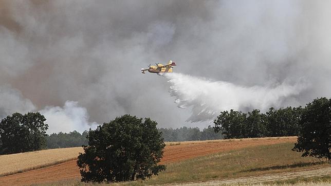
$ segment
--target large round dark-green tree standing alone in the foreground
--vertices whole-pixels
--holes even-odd
[[[146,179],[166,169],[158,164],[166,146],[150,118],[124,115],[89,130],[77,165],[84,182]]]

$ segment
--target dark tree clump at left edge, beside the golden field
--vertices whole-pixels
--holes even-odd
[[[45,145],[48,125],[40,113],[14,113],[1,120],[0,154],[41,150]]]

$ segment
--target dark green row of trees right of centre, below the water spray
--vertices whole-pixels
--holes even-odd
[[[214,121],[214,131],[221,131],[226,139],[298,136],[301,132],[300,119],[303,108],[269,108],[266,113],[253,109],[248,113],[222,111]]]

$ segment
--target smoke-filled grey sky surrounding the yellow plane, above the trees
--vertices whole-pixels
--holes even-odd
[[[185,122],[194,105],[177,107],[169,79],[140,71],[168,60],[192,77],[189,83],[243,87],[235,95],[242,100],[247,90],[255,103],[247,107],[260,106],[259,97],[248,96],[256,86],[264,99],[263,92],[305,82],[268,106],[330,97],[329,7],[330,1],[0,0],[0,117],[40,110],[61,118],[49,121],[51,132],[83,131],[123,114],[151,117],[159,127],[205,127]]]

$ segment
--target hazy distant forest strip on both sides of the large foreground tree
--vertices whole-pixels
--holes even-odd
[[[195,140],[214,140],[223,139],[221,133],[215,133],[214,128],[210,125],[200,131],[198,127],[180,127],[180,128],[159,128],[159,132],[162,132],[164,141],[195,141]],[[67,148],[76,147],[88,144],[86,136],[88,132],[85,131],[80,134],[77,131],[70,133],[53,133],[46,136],[47,148]]]

